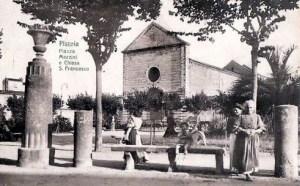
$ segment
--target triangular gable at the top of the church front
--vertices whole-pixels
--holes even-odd
[[[157,23],[152,22],[122,52],[127,53],[137,50],[174,45],[189,45],[189,43],[183,41],[175,34],[169,33],[167,29]]]

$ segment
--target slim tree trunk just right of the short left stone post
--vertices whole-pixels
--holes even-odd
[[[102,146],[102,64],[96,64],[96,136],[95,151]]]

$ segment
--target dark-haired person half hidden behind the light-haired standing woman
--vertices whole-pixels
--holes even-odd
[[[243,112],[244,108],[242,105],[240,104],[235,104],[235,106],[232,109],[232,116],[228,118],[227,121],[227,132],[229,134],[229,155],[230,155],[230,171],[236,172],[236,169],[232,166],[232,162],[233,162],[233,152],[234,152],[234,148],[235,148],[235,140],[236,140],[236,134],[237,131],[234,130],[234,125],[236,122],[240,121],[240,116]]]

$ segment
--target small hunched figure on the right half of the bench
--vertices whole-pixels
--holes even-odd
[[[206,146],[206,137],[204,132],[199,130],[199,125],[190,126],[189,123],[183,122],[179,133],[179,141],[176,144],[176,154],[178,154],[181,149],[183,149],[184,154],[187,154],[188,149],[200,144],[201,139]]]

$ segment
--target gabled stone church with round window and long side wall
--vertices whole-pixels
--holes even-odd
[[[151,23],[123,51],[123,94],[150,87],[182,97],[228,91],[240,74],[189,58],[189,43]]]

